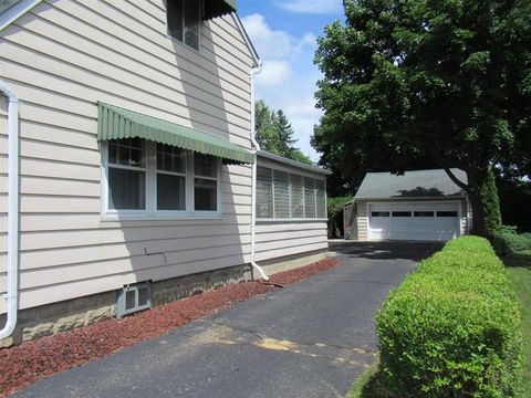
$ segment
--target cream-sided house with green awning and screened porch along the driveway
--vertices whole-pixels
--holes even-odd
[[[0,0],[2,344],[323,258],[327,171],[257,161],[236,10]]]

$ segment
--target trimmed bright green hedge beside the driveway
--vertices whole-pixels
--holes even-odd
[[[393,291],[377,315],[381,367],[398,397],[516,397],[521,322],[490,243],[450,241]]]

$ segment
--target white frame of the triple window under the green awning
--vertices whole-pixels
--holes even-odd
[[[195,178],[206,178],[214,180],[214,177],[195,176],[194,174],[194,153],[186,150],[186,210],[157,210],[157,145],[153,142],[144,140],[146,148],[146,210],[114,210],[108,208],[108,143],[100,143],[100,151],[102,155],[101,172],[102,172],[102,221],[118,220],[183,220],[183,219],[220,219],[222,217],[222,192],[221,192],[221,159],[216,158],[216,193],[217,210],[216,211],[196,211],[195,206]],[[115,167],[113,165],[113,167]],[[116,166],[117,168],[139,170],[140,168]],[[181,175],[171,171],[162,171],[163,174]]]

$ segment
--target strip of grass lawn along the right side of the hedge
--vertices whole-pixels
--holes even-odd
[[[523,396],[531,398],[531,255],[516,255],[506,260],[512,283],[522,306],[523,326]]]

